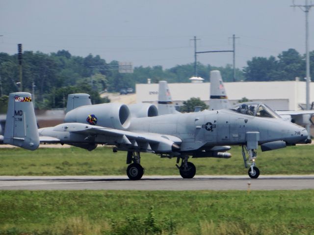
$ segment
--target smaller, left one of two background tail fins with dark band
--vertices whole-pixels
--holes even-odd
[[[170,90],[166,81],[159,81],[158,113],[159,115],[180,113],[172,103]]]

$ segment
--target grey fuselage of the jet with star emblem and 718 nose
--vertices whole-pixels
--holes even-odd
[[[181,151],[198,149],[205,144],[245,144],[247,132],[259,132],[259,144],[270,141],[295,143],[307,136],[305,128],[281,118],[261,118],[232,110],[136,118],[131,121],[128,131],[176,136],[182,140]]]

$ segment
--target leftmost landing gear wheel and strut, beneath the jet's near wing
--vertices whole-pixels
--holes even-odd
[[[130,164],[133,162],[132,164]],[[127,164],[130,164],[127,168],[127,175],[130,180],[140,180],[144,174],[144,168],[140,164],[141,157],[139,152],[128,151]]]

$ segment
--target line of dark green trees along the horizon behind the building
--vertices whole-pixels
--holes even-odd
[[[311,75],[314,77],[314,51],[310,52]],[[100,97],[103,91],[119,92],[122,88],[135,88],[136,83],[160,80],[189,82],[194,75],[194,64],[177,65],[170,69],[162,66],[135,67],[133,73],[119,73],[118,61],[107,63],[99,55],[74,56],[67,50],[45,54],[40,51],[23,52],[23,91],[34,88],[36,108],[63,108],[67,95],[88,93],[93,103],[109,102]],[[221,71],[225,82],[233,81],[233,68],[197,64],[198,76],[209,81],[211,70]],[[236,81],[283,81],[305,76],[305,56],[295,49],[283,51],[277,57],[253,57],[243,70],[235,70]],[[19,64],[17,54],[0,53],[0,103],[9,93],[19,91]],[[34,87],[33,87],[34,86]],[[4,101],[3,101],[4,100]]]

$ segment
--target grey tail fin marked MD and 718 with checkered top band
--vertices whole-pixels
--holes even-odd
[[[39,135],[31,94],[10,93],[3,143],[29,150],[38,148]]]

